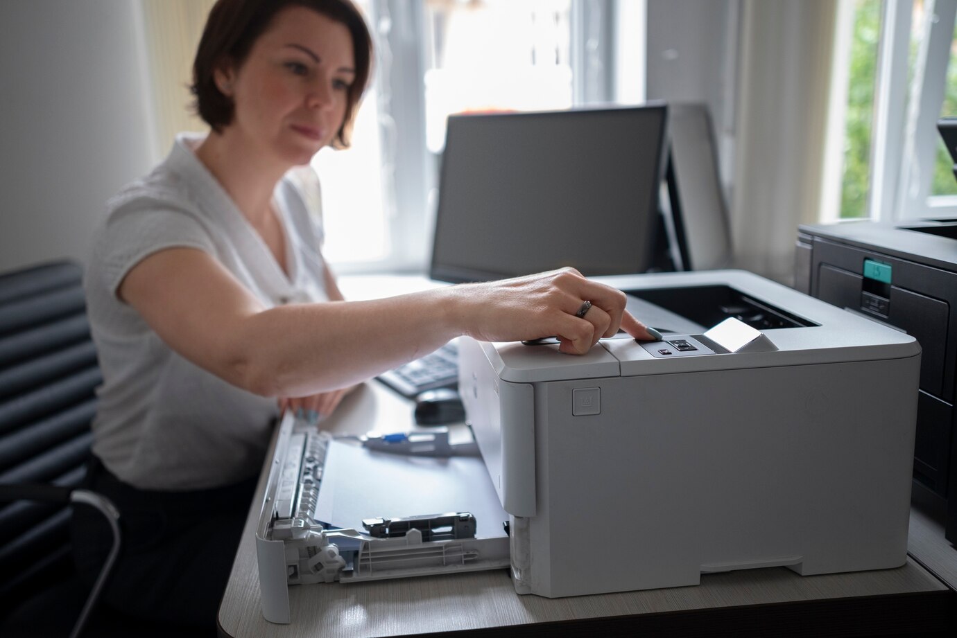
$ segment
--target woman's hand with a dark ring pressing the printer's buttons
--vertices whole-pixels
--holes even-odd
[[[452,312],[465,314],[452,320],[480,341],[555,336],[560,351],[584,354],[619,328],[636,339],[660,339],[625,310],[624,293],[573,268],[456,288],[459,303]]]

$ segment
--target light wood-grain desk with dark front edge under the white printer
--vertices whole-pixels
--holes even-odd
[[[350,296],[356,297],[364,295]],[[411,423],[412,403],[370,382],[348,396],[323,428],[345,434]],[[699,586],[564,599],[519,596],[507,570],[294,586],[292,624],[273,625],[262,617],[256,570],[266,475],[219,609],[222,635],[954,635],[954,592],[912,559],[898,569],[827,576],[801,577],[784,567],[706,574]],[[912,522],[912,536],[914,524],[924,529],[923,519]]]

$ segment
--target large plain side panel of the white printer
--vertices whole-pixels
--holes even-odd
[[[918,355],[536,384],[531,591],[900,566],[919,365]],[[597,413],[575,414],[583,388],[597,388]]]

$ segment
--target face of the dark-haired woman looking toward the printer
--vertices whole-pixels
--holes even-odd
[[[352,36],[341,22],[305,7],[278,11],[238,68],[216,73],[233,98],[224,134],[286,165],[302,165],[330,143],[355,81]]]

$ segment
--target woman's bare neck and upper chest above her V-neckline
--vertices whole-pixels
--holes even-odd
[[[197,159],[205,165],[233,199],[243,216],[256,228],[272,214],[273,191],[289,166],[270,161],[237,139],[230,132],[210,134],[195,148]]]

